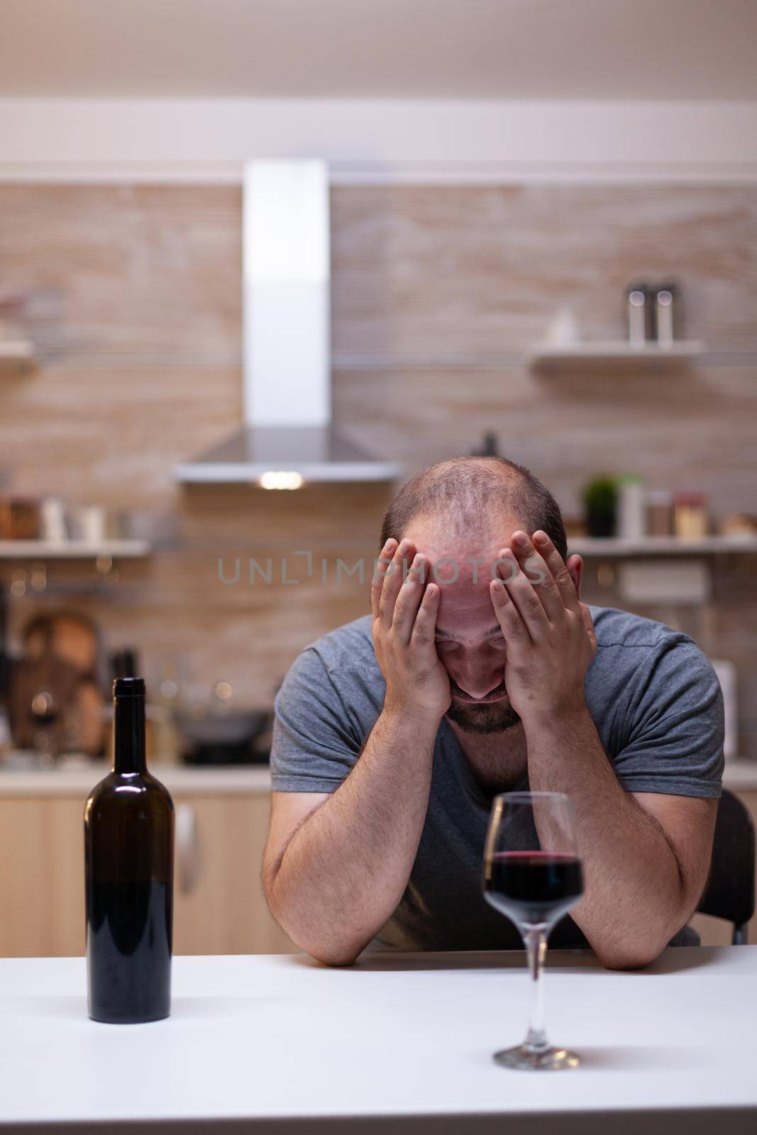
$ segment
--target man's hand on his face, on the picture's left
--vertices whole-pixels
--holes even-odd
[[[410,570],[403,572],[403,565]],[[452,695],[435,646],[439,587],[411,540],[387,540],[371,587],[371,630],[390,713],[440,721]],[[406,579],[403,581],[403,574]]]

